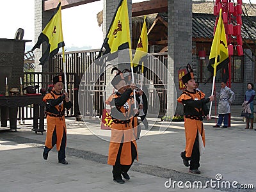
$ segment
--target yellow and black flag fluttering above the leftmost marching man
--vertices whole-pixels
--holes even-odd
[[[58,4],[56,10],[54,10],[51,19],[45,26],[44,30],[38,36],[38,40],[31,51],[36,48],[40,48],[43,42],[47,42],[47,50],[40,58],[40,65],[44,65],[45,61],[48,61],[52,56],[59,52],[60,47],[64,47],[62,22],[61,22],[61,3]]]

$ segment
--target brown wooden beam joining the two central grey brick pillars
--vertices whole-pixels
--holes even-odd
[[[132,3],[132,17],[161,12],[168,12],[167,0],[151,0]]]

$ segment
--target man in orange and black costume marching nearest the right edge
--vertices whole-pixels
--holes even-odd
[[[207,120],[210,119],[209,109],[206,104],[214,100],[214,96],[212,95],[205,99],[203,92],[195,90],[193,70],[189,64],[188,66],[190,71],[182,77],[182,82],[185,84],[186,90],[177,99],[184,106],[184,127],[186,135],[186,148],[184,152],[181,152],[180,156],[185,166],[190,165],[189,172],[200,174],[200,170],[198,170],[200,166],[199,140],[203,141],[205,145],[202,116],[207,115]]]

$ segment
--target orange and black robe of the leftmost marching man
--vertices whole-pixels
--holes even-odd
[[[45,114],[47,115],[47,136],[45,140],[45,146],[52,148],[52,134],[56,129],[57,141],[56,148],[60,150],[61,140],[63,132],[67,134],[67,128],[65,124],[65,108],[70,109],[72,102],[65,102],[65,95],[62,93],[49,92],[43,98],[46,102]],[[67,143],[67,142],[66,142]]]

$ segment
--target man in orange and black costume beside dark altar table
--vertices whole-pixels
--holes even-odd
[[[43,98],[46,102],[45,114],[47,115],[47,136],[43,157],[48,158],[48,153],[56,144],[59,163],[68,164],[66,158],[67,128],[65,123],[65,108],[70,109],[72,102],[68,93],[62,93],[64,76],[56,76],[52,79],[54,89]]]

